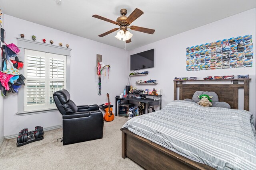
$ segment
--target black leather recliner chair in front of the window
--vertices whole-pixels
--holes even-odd
[[[65,89],[54,92],[53,98],[63,115],[63,145],[103,137],[103,115],[98,105],[76,106]]]

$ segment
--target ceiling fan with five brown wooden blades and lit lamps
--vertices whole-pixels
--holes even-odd
[[[108,18],[104,18],[104,17],[98,16],[98,15],[93,15],[92,16],[94,18],[98,18],[100,20],[104,20],[104,21],[107,21],[107,22],[110,22],[110,23],[114,23],[114,24],[120,26],[119,28],[114,28],[114,29],[111,29],[110,31],[107,31],[107,32],[105,32],[103,34],[100,34],[99,37],[104,37],[105,35],[108,35],[108,34],[114,32],[114,31],[117,31],[118,29],[120,29],[120,31],[118,31],[118,33],[117,33],[117,35],[115,37],[117,39],[119,39],[119,40],[126,41],[126,43],[130,43],[130,42],[132,42],[132,40],[130,39],[132,37],[132,33],[127,31],[127,28],[130,28],[131,30],[134,30],[134,31],[140,31],[140,32],[149,33],[149,34],[153,34],[155,32],[154,29],[138,27],[138,26],[134,26],[134,25],[128,27],[134,20],[136,20],[142,14],[144,14],[144,12],[142,12],[138,8],[136,8],[130,14],[130,16],[128,16],[128,17],[125,16],[127,14],[127,10],[126,9],[120,10],[120,13],[121,13],[122,16],[118,17],[116,19],[116,21],[109,20]]]

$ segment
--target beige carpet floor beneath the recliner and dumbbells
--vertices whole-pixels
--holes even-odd
[[[104,122],[102,139],[65,146],[57,142],[62,129],[46,131],[43,140],[22,147],[16,147],[16,139],[5,140],[0,147],[0,169],[143,169],[121,156],[120,128],[127,120],[115,117],[112,122]]]

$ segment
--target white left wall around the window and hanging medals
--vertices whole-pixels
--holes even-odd
[[[60,42],[64,46],[69,44],[72,49],[70,95],[77,105],[108,102],[107,93],[110,94],[110,102],[114,104],[116,94],[123,91],[128,78],[128,65],[126,64],[128,51],[8,15],[5,15],[4,21],[6,43],[17,44],[16,37],[20,37],[20,33],[23,33],[24,39],[31,40],[31,36],[35,35],[38,42],[46,39],[48,44],[50,40],[54,41],[53,45],[58,45]],[[68,27],[68,22],[66,26]],[[120,41],[120,43],[122,42]],[[103,63],[111,66],[109,79],[107,72],[106,77],[102,76],[102,96],[98,96],[96,54],[102,55]],[[20,58],[20,60],[23,61],[24,59]],[[10,94],[4,99],[4,136],[17,134],[23,128],[34,129],[36,125],[46,128],[62,124],[62,116],[58,111],[34,115],[16,115],[18,111],[17,101],[17,94]],[[0,104],[1,102],[0,100]],[[2,120],[1,117],[0,120]]]

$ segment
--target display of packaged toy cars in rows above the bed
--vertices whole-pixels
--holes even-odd
[[[252,35],[187,48],[187,71],[252,67]]]

